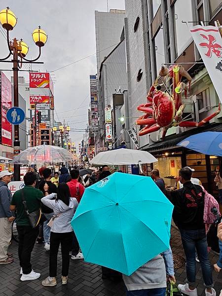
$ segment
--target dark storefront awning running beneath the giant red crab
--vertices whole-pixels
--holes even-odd
[[[141,147],[140,150],[146,150],[148,152],[151,151],[161,151],[167,149],[174,149],[174,148],[179,148],[177,144],[181,141],[183,141],[185,138],[195,135],[201,132],[221,132],[222,131],[222,123],[217,123],[217,124],[209,124],[205,125],[202,127],[194,128],[189,131],[186,131],[182,134],[173,134],[165,138],[164,141],[158,141],[155,144],[152,145],[146,145],[144,147]]]

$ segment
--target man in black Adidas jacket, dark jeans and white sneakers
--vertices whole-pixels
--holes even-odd
[[[205,294],[206,296],[216,296],[216,292],[212,288],[212,269],[208,257],[207,238],[203,221],[205,193],[201,186],[191,183],[191,175],[192,172],[189,169],[181,169],[179,178],[184,187],[173,193],[173,219],[181,232],[186,256],[187,283],[178,285],[178,288],[186,295],[197,296],[195,288],[195,250],[197,250],[206,286]]]

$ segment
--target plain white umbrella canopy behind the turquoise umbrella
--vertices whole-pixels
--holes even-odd
[[[151,163],[157,159],[147,151],[134,149],[115,149],[98,153],[90,163],[93,164],[138,164]]]

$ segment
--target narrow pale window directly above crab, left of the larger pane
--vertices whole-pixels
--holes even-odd
[[[165,63],[165,56],[164,56],[164,41],[163,41],[163,30],[160,29],[157,33],[156,37],[154,38],[154,55],[155,55],[155,64],[156,64],[156,72],[159,73],[161,65]]]

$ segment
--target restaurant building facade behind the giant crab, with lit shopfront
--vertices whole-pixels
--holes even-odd
[[[147,94],[161,65],[182,65],[192,77],[187,99],[183,96],[184,120],[199,122],[218,110],[219,98],[202,63],[189,32],[189,26],[200,21],[222,19],[222,2],[215,0],[125,0],[125,38],[129,83],[131,124],[141,114],[137,106],[147,103]],[[214,24],[214,23],[213,23]],[[162,81],[161,81],[162,82]],[[161,82],[159,82],[161,84]],[[163,90],[163,89],[162,89]],[[136,126],[137,133],[141,129]],[[138,137],[140,149],[158,158],[154,167],[160,170],[166,185],[175,185],[178,171],[189,165],[194,177],[213,192],[213,172],[218,167],[215,156],[177,148],[177,143],[190,134],[205,130],[222,130],[222,113],[202,128],[172,127],[164,141],[162,130]],[[144,166],[149,173],[150,167]]]

